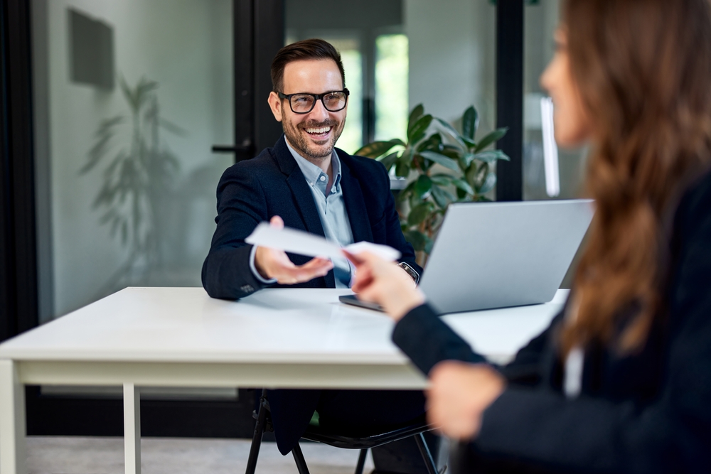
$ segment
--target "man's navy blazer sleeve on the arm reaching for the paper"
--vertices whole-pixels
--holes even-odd
[[[217,198],[217,228],[203,263],[203,286],[213,298],[237,299],[266,286],[252,274],[252,245],[245,244],[257,224],[267,220],[266,198],[255,173],[239,165],[223,173]]]

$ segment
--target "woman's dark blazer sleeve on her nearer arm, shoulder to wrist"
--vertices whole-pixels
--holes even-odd
[[[484,413],[479,452],[565,472],[691,473],[711,465],[711,188],[678,222],[663,379],[650,401],[509,388]],[[653,362],[650,362],[653,363]]]

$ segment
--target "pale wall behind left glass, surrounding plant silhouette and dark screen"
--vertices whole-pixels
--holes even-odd
[[[131,85],[142,77],[159,82],[161,114],[188,131],[163,133],[178,156],[178,199],[164,211],[176,223],[162,250],[171,271],[148,284],[200,284],[200,262],[214,229],[215,186],[230,155],[210,153],[232,143],[232,18],[230,0],[50,0],[48,16],[48,109],[53,313],[83,306],[127,256],[101,210],[91,205],[103,166],[79,176],[102,119],[128,114],[117,83],[111,91],[70,82],[68,7],[114,29],[114,65]],[[130,127],[126,127],[129,129]],[[129,134],[123,136],[127,143]],[[118,149],[118,148],[117,148]],[[116,150],[117,150],[116,149]],[[113,155],[111,155],[113,156]],[[176,228],[176,226],[182,228]],[[177,237],[176,237],[177,236]]]

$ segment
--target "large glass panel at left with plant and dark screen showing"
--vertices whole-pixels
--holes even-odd
[[[210,151],[233,140],[232,1],[33,0],[31,13],[41,323],[127,286],[201,286],[233,159]]]

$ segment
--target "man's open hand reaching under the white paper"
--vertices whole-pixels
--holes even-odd
[[[275,215],[269,220],[269,225],[282,229],[284,221]],[[283,250],[257,247],[255,266],[265,279],[275,278],[279,284],[293,285],[313,280],[317,276],[324,276],[333,268],[333,262],[329,259],[316,257],[303,265],[294,265]]]

